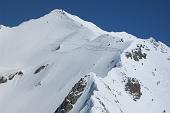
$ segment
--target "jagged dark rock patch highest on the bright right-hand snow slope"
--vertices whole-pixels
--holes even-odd
[[[143,45],[137,45],[137,48],[133,49],[131,52],[126,52],[125,56],[127,58],[134,59],[135,61],[139,61],[140,59],[146,59],[147,54],[142,52]]]

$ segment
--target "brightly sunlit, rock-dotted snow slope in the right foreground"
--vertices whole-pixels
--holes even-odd
[[[96,77],[96,88],[83,110],[168,113],[169,55],[169,48],[154,39],[133,41],[121,55],[121,66],[112,68],[104,78]]]

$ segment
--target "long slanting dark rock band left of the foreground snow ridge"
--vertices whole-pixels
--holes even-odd
[[[84,78],[81,78],[71,89],[70,93],[65,97],[62,104],[57,108],[54,113],[68,113],[73,105],[77,102],[79,97],[82,95],[87,81]]]

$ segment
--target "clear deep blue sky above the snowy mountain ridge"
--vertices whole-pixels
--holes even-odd
[[[56,8],[104,30],[152,36],[170,46],[170,0],[0,0],[0,24],[16,26]]]

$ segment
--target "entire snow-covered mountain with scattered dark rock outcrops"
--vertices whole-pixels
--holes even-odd
[[[0,113],[170,113],[170,48],[62,10],[0,26]]]

